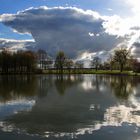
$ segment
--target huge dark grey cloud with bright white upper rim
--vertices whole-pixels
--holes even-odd
[[[31,34],[36,48],[51,55],[63,50],[70,57],[87,51],[109,51],[122,41],[105,32],[105,20],[97,12],[74,7],[29,8],[1,15],[5,25],[19,33]]]

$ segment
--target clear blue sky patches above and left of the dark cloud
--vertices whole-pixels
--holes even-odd
[[[116,0],[117,1],[117,0]],[[15,14],[18,11],[27,9],[29,7],[40,6],[73,6],[82,8],[85,10],[91,9],[98,11],[104,15],[122,14],[126,16],[128,13],[127,7],[116,2],[114,5],[113,0],[1,0],[0,2],[0,14],[10,13]],[[119,10],[117,10],[119,9]],[[127,12],[122,12],[122,11]],[[10,28],[7,28],[0,23],[0,38],[12,38],[12,39],[31,39],[29,35],[19,35],[13,32]]]

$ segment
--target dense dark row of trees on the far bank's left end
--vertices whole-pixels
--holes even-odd
[[[36,68],[36,58],[32,51],[2,51],[0,53],[0,72],[5,73],[32,73]]]

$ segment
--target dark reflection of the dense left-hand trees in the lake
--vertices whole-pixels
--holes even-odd
[[[1,76],[0,102],[36,94],[37,81],[34,76]]]

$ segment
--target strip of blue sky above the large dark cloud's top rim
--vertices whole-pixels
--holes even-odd
[[[127,11],[127,7],[123,3],[120,3],[119,0],[1,0],[0,14],[16,13],[29,7],[39,7],[42,5],[49,7],[76,6],[78,8],[92,9],[109,15],[114,13],[125,15],[125,12],[122,13],[122,11]],[[108,8],[113,9],[113,11],[107,10]]]

